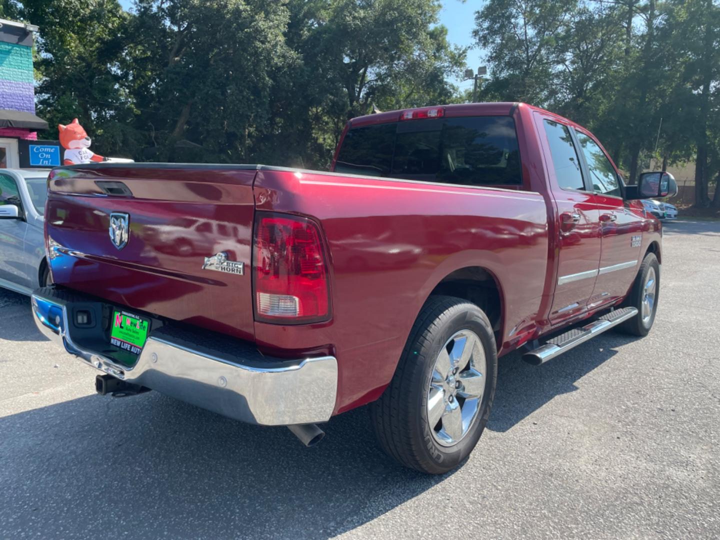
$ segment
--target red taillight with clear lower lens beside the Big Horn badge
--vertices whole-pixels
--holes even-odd
[[[254,241],[256,320],[328,320],[330,287],[318,226],[304,217],[257,212]]]

